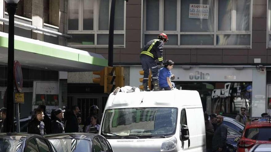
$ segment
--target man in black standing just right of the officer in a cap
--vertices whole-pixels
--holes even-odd
[[[80,111],[78,106],[72,107],[72,113],[66,121],[65,132],[78,132],[77,113]]]

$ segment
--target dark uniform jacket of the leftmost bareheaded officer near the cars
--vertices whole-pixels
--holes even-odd
[[[28,124],[27,133],[44,135],[45,133],[44,123],[42,121],[39,121],[37,118],[34,118]]]

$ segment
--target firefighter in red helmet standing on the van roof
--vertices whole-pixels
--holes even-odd
[[[159,83],[158,83],[158,67],[156,64],[156,60],[160,62],[160,66],[163,66],[163,46],[164,43],[168,42],[168,36],[164,33],[160,33],[158,35],[158,39],[154,39],[148,41],[148,43],[144,46],[143,51],[140,53],[140,62],[142,64],[142,69],[144,71],[143,76],[143,90],[150,91],[148,88],[148,80],[149,80],[149,70],[152,71],[152,84],[153,91],[159,91]]]

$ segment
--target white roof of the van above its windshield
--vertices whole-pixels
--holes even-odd
[[[141,91],[124,93],[111,93],[107,99],[105,109],[128,108],[128,107],[202,107],[200,95],[191,90],[169,90],[169,91]]]

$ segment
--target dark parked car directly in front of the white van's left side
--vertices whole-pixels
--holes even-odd
[[[113,152],[106,138],[91,133],[48,134],[47,138],[57,152]]]

